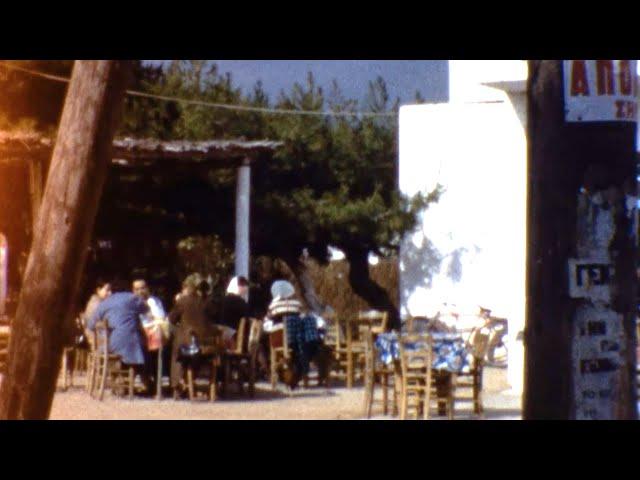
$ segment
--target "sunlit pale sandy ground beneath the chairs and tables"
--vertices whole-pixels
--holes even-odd
[[[80,378],[78,383],[82,383]],[[505,392],[506,370],[485,370],[486,419],[519,419],[520,396]],[[105,395],[100,402],[90,398],[81,386],[58,392],[53,401],[51,419],[57,420],[347,420],[362,418],[363,389],[348,390],[339,384],[335,388],[310,387],[288,395],[272,392],[268,384],[257,386],[256,397],[241,396],[214,403],[204,398],[188,401],[163,401],[135,398],[125,400]],[[389,419],[374,411],[374,418]],[[456,405],[456,418],[476,419],[470,404]]]

